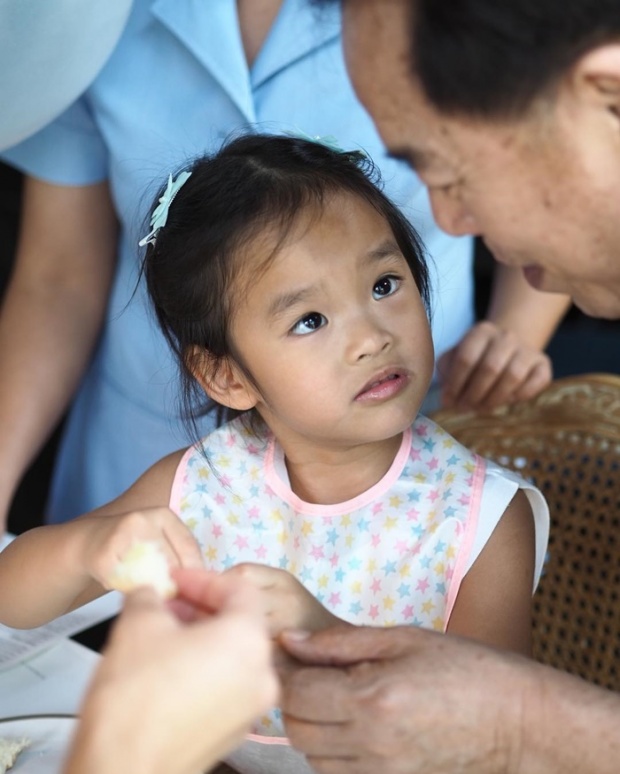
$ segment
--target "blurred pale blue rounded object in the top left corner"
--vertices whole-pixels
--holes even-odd
[[[0,150],[61,113],[105,64],[131,0],[0,0]]]

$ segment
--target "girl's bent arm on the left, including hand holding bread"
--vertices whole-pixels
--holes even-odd
[[[101,596],[126,550],[157,540],[171,566],[202,567],[198,544],[168,509],[183,452],[156,463],[113,502],[78,519],[38,527],[0,552],[0,622],[32,628]]]

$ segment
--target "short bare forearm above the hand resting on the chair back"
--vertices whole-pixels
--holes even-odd
[[[521,271],[498,265],[486,319],[514,333],[520,342],[543,350],[570,307],[568,296],[541,293]]]

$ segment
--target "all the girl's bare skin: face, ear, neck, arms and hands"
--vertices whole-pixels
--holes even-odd
[[[433,370],[430,329],[407,262],[368,203],[339,195],[296,226],[275,255],[273,234],[254,239],[230,290],[243,300],[232,316],[243,368],[229,359],[214,372],[206,356],[194,360],[196,377],[220,403],[259,412],[295,494],[342,503],[380,481],[417,416]],[[202,566],[191,531],[167,507],[181,455],[109,505],[11,543],[0,554],[0,585],[11,589],[0,620],[36,626],[102,594],[136,540],[158,542],[171,567]],[[529,653],[534,554],[518,493],[461,584],[448,631]],[[272,636],[338,622],[287,573],[243,565],[231,574],[259,590]]]

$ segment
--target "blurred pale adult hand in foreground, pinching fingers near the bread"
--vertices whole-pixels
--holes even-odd
[[[180,617],[151,589],[127,597],[65,774],[196,774],[276,703],[255,590],[204,570],[174,577]]]

